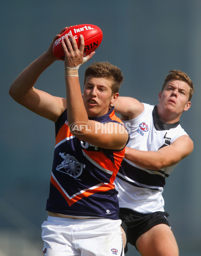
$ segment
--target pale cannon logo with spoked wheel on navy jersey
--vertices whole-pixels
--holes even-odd
[[[59,153],[61,157],[64,159],[60,165],[57,166],[56,170],[66,173],[74,178],[77,178],[81,175],[83,168],[85,165],[80,164],[77,159],[69,154],[66,153]]]

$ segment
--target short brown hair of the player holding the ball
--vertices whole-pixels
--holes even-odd
[[[103,77],[112,80],[112,95],[119,92],[120,86],[124,81],[124,76],[120,68],[112,65],[111,63],[105,62],[94,62],[88,66],[84,74],[84,85],[86,83],[87,76]]]

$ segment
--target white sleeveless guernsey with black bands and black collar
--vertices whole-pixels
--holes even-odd
[[[143,113],[137,118],[124,121],[126,127],[130,128],[128,147],[157,151],[187,134],[179,122],[174,124],[161,122],[156,106],[144,104],[144,108]],[[177,164],[153,171],[141,168],[124,158],[115,180],[120,207],[141,213],[164,211],[162,192],[165,178],[169,177],[176,166]]]

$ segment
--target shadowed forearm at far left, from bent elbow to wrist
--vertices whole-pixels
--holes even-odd
[[[43,53],[39,58],[25,68],[11,84],[9,94],[15,100],[20,102],[20,99],[32,89],[39,76],[46,70],[55,59],[51,59],[46,53]]]

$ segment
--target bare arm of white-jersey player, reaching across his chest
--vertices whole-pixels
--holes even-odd
[[[177,138],[171,145],[162,147],[156,152],[126,147],[125,158],[140,167],[158,171],[179,163],[192,151],[193,141],[188,135],[183,135]]]

